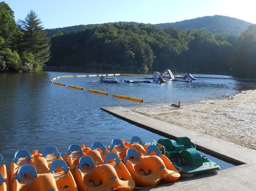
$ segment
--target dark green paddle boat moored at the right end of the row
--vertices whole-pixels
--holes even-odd
[[[190,176],[207,171],[217,171],[219,164],[201,156],[196,146],[188,137],[179,137],[176,141],[171,139],[159,139],[156,144],[162,153],[168,157],[172,164],[180,170],[184,176]]]

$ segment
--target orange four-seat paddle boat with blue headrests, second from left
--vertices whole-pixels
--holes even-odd
[[[25,177],[23,177],[25,175]],[[42,177],[41,177],[42,176]],[[60,157],[56,147],[49,146],[38,153],[19,150],[10,168],[10,185],[12,190],[77,190],[76,182]]]

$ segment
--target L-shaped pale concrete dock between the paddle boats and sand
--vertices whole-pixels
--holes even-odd
[[[127,108],[101,109],[113,116],[166,138],[190,137],[198,150],[231,164],[238,165],[220,170],[217,174],[181,179],[176,183],[166,183],[153,187],[150,190],[256,190],[256,150],[182,128],[181,126],[159,121]]]

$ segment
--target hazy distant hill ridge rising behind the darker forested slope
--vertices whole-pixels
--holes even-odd
[[[123,24],[136,25],[139,23],[136,22],[120,22]],[[93,26],[102,25],[102,24],[90,24],[90,25],[76,25],[76,26],[68,26],[56,29],[45,29],[48,33],[48,36],[51,37],[54,34],[58,33],[70,33],[72,31],[83,30],[86,28],[90,28]],[[201,29],[206,32],[211,32],[214,34],[233,34],[239,35],[241,32],[244,32],[252,23],[246,22],[241,19],[227,17],[227,16],[206,16],[206,17],[198,17],[189,20],[183,20],[175,23],[160,23],[160,24],[147,24],[151,26],[156,26],[158,28],[168,28],[170,26],[176,26],[178,29],[182,30],[190,30],[190,29]]]

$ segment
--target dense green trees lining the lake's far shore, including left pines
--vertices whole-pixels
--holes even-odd
[[[0,72],[35,72],[43,66],[85,69],[226,73],[255,79],[256,25],[239,36],[204,30],[159,29],[107,23],[47,37],[35,11],[15,23],[0,3]]]

